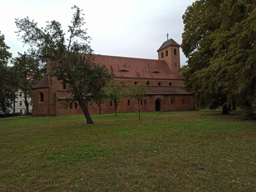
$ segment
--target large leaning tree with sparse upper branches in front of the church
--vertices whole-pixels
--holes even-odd
[[[45,28],[39,28],[28,17],[16,19],[17,33],[23,43],[30,46],[28,52],[31,55],[47,61],[50,73],[61,82],[68,83],[69,91],[78,101],[87,124],[93,124],[86,103],[99,100],[110,75],[105,66],[94,62],[82,10],[77,6],[72,9],[75,13],[68,26],[68,36],[57,21],[47,22]]]

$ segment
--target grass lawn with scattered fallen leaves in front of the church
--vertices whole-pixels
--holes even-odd
[[[0,191],[256,191],[256,121],[221,111],[0,120]]]

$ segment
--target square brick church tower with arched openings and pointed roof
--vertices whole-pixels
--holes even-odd
[[[180,70],[180,45],[173,39],[169,39],[157,50],[158,60],[164,60],[172,74],[178,75]]]

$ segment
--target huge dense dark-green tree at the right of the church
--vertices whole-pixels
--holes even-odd
[[[183,78],[198,106],[256,106],[255,0],[198,0],[183,15]]]

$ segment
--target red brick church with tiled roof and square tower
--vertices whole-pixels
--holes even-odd
[[[105,65],[114,76],[115,84],[145,83],[147,94],[140,101],[141,112],[194,110],[194,98],[186,92],[180,75],[180,45],[167,40],[157,50],[158,60],[95,55],[94,62]],[[78,103],[67,105],[70,98],[66,84],[46,74],[33,88],[32,116],[82,115]],[[72,99],[72,98],[70,98]],[[114,104],[88,104],[90,114],[114,113]],[[118,113],[137,112],[138,102],[133,98],[122,98]]]

